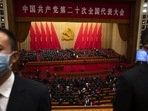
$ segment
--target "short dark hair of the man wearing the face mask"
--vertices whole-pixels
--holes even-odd
[[[16,41],[13,33],[11,31],[9,31],[8,29],[1,28],[1,27],[0,27],[0,32],[3,32],[8,36],[8,38],[10,40],[10,44],[11,44],[11,50],[12,51],[17,50],[17,41]]]

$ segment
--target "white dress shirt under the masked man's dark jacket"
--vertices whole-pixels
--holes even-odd
[[[6,111],[13,83],[14,74],[12,72],[10,77],[0,86],[0,94],[2,95],[0,98],[0,107],[2,111]]]

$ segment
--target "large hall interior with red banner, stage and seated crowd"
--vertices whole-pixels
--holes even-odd
[[[147,0],[0,0],[17,40],[13,71],[48,87],[52,111],[112,111],[116,83],[136,65]]]

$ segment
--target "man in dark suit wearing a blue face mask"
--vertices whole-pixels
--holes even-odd
[[[0,28],[0,111],[50,111],[46,86],[14,76],[12,65],[19,59],[15,38]]]

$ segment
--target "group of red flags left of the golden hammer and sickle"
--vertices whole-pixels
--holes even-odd
[[[36,22],[35,22],[34,29],[32,25],[30,27],[30,38],[31,38],[30,50],[61,49],[56,31],[54,29],[52,22],[51,22],[50,28],[48,23],[46,22],[46,26],[45,26],[46,29],[44,28],[42,23],[39,23],[39,24],[40,24],[40,27],[38,27]]]

